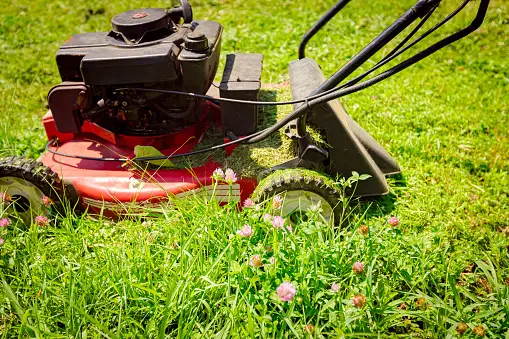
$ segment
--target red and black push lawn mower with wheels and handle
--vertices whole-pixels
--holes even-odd
[[[219,202],[255,203],[283,197],[282,213],[320,205],[337,217],[335,182],[365,175],[351,194],[388,193],[386,176],[400,172],[389,153],[345,111],[339,98],[372,86],[467,36],[484,20],[489,0],[480,0],[473,22],[378,75],[365,77],[442,27],[470,2],[465,0],[419,37],[414,35],[441,0],[418,0],[371,43],[329,78],[305,56],[309,40],[350,0],[338,1],[304,35],[299,59],[289,67],[291,101],[260,100],[263,57],[229,54],[218,95],[208,95],[220,60],[223,27],[194,20],[191,5],[130,10],[111,20],[109,32],[77,34],[57,51],[62,83],[48,94],[42,118],[48,143],[36,161],[0,159],[3,210],[25,220],[49,213],[51,203],[70,201],[79,210],[121,215],[127,209],[157,207],[168,197],[214,193]],[[420,21],[419,21],[420,20]],[[419,21],[412,29],[410,26]],[[402,32],[408,35],[374,67],[345,82]],[[412,40],[412,38],[414,38]],[[411,41],[412,40],[412,41]],[[213,88],[213,87],[212,87]],[[265,106],[293,105],[293,111],[260,129]],[[313,128],[315,134],[310,133]],[[178,159],[220,150],[228,157],[239,145],[252,145],[283,129],[292,140],[292,159],[252,177],[214,181],[217,159],[177,167]],[[211,130],[221,142],[204,145]],[[318,142],[316,135],[325,142]],[[208,155],[207,155],[208,156]],[[231,173],[230,173],[231,174]],[[230,186],[231,185],[231,186]],[[65,199],[64,199],[65,196]]]

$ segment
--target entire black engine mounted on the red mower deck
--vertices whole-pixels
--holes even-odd
[[[205,94],[217,71],[222,26],[193,21],[184,0],[170,10],[127,11],[111,23],[110,32],[74,35],[57,52],[63,83],[48,102],[58,130],[77,133],[89,120],[115,133],[155,135],[194,123],[199,99],[134,88]]]

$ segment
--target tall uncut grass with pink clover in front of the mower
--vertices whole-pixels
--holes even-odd
[[[239,211],[203,196],[172,200],[159,218],[13,224],[2,248],[1,332],[435,338],[454,337],[465,322],[468,333],[482,325],[490,337],[506,335],[509,288],[494,264],[503,258],[467,264],[445,232],[413,234],[352,208],[357,218],[341,229],[308,212],[285,220],[292,232],[265,216],[278,215],[270,201]],[[238,234],[245,225],[249,237]],[[285,281],[297,291],[289,302],[276,293]],[[354,305],[358,295],[365,304]]]

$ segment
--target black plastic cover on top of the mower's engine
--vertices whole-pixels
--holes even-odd
[[[161,19],[161,11],[164,12],[140,9],[122,13],[131,17],[146,15],[139,20],[145,20],[140,22],[141,29],[148,30],[138,34],[126,20],[117,22],[117,16],[112,20],[114,30],[110,32],[72,36],[56,55],[62,81],[79,81],[91,86],[169,82],[174,84],[168,85],[173,89],[206,93],[219,63],[222,26],[214,21],[172,26],[169,19]],[[155,24],[146,22],[156,14]],[[163,27],[161,21],[170,24]],[[194,50],[192,46],[196,44],[189,35],[202,36],[206,48]],[[186,69],[191,74],[185,74]],[[180,78],[185,78],[185,83]]]

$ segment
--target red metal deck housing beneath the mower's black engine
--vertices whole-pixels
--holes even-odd
[[[113,134],[88,121],[83,123],[80,133],[59,133],[51,111],[43,117],[43,124],[48,140],[58,139],[58,152],[96,158],[134,158],[133,150],[137,145],[153,146],[163,154],[192,151],[208,127],[208,117],[216,123],[220,121],[218,106],[204,102],[201,111],[202,118],[196,124],[164,136]],[[50,152],[44,153],[40,161],[74,186],[82,208],[110,216],[155,207],[168,196],[209,194],[214,187],[211,176],[220,166],[210,160],[197,168],[138,171],[120,162],[83,160]],[[256,185],[255,179],[239,178],[230,191],[228,184],[219,183],[214,196],[220,202],[227,199],[241,202],[250,196]]]

